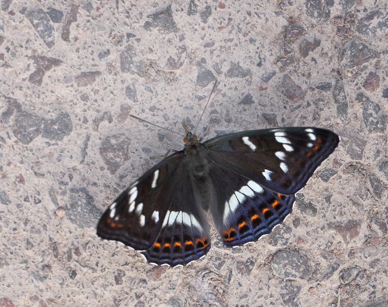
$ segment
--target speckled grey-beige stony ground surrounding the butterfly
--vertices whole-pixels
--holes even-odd
[[[384,0],[1,0],[0,307],[388,306]],[[110,202],[181,149],[277,126],[336,131],[286,222],[171,269],[101,241]]]

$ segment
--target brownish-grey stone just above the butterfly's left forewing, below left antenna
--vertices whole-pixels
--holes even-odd
[[[129,160],[130,141],[124,133],[105,137],[100,145],[100,155],[113,173]]]

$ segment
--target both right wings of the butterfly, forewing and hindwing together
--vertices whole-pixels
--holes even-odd
[[[256,241],[280,224],[294,194],[338,142],[317,128],[245,131],[205,142],[217,194],[210,211],[225,245]]]

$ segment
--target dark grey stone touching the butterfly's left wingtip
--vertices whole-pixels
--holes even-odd
[[[69,201],[65,209],[69,221],[81,228],[95,227],[102,213],[85,187],[69,189]]]

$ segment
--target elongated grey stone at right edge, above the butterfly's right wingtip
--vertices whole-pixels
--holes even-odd
[[[363,93],[359,93],[356,97],[356,100],[362,102],[362,117],[368,131],[384,133],[387,129],[388,116],[381,109],[380,105],[374,103]]]

